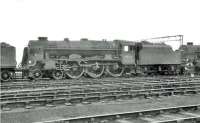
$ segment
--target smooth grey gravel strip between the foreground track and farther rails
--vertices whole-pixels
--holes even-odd
[[[200,95],[170,96],[156,99],[133,99],[109,103],[93,103],[76,106],[43,107],[1,112],[1,123],[32,123],[37,121],[90,116],[107,113],[141,111],[172,106],[200,104]]]

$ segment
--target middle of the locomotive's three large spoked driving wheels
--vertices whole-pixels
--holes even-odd
[[[86,73],[89,77],[99,78],[104,73],[104,66],[96,62],[92,66],[86,68]]]

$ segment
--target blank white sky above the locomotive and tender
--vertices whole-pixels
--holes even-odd
[[[200,44],[199,0],[0,0],[0,41],[16,47],[18,63],[28,40],[38,36],[139,40],[177,34]]]

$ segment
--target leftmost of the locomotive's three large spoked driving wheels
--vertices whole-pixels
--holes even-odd
[[[81,67],[78,62],[69,62],[68,63],[69,69],[65,72],[65,74],[71,79],[78,79],[80,78],[83,73],[84,69]]]

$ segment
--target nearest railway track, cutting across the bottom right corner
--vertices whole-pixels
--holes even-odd
[[[199,123],[200,104],[61,118],[34,123]]]

